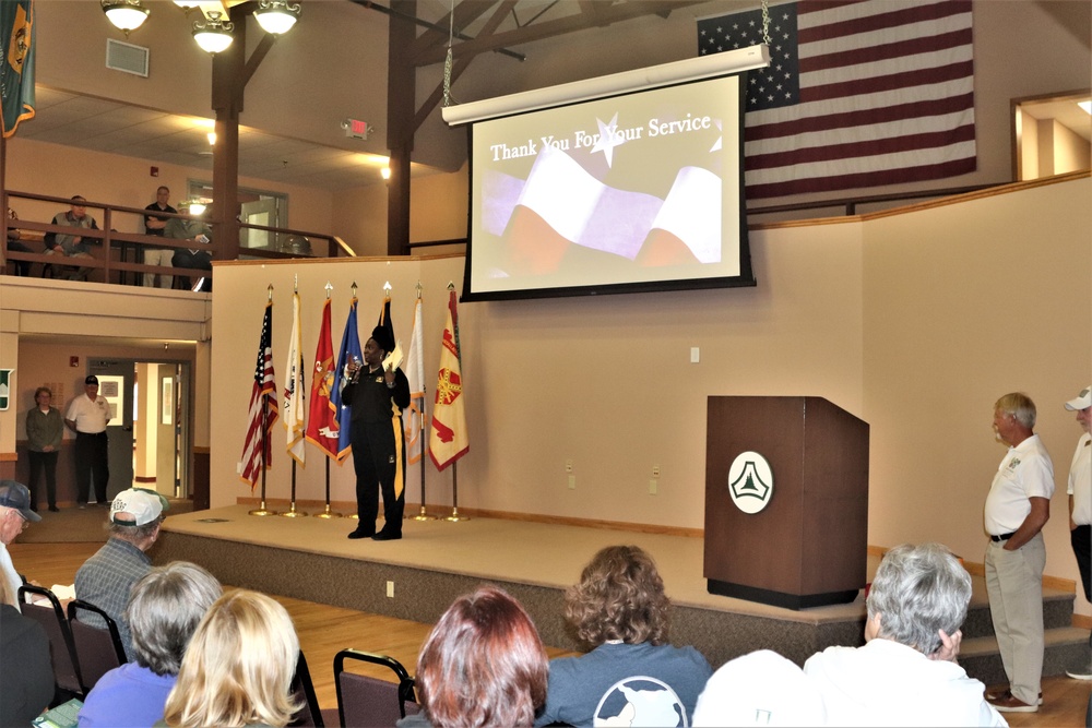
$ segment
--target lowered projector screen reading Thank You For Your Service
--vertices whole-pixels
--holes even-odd
[[[740,76],[475,122],[464,300],[752,286]]]

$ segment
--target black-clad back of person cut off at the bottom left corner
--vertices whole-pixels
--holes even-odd
[[[28,726],[54,697],[49,637],[0,578],[0,726]]]

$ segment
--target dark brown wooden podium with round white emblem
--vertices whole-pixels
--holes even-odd
[[[709,593],[790,609],[856,598],[868,546],[867,422],[821,397],[709,397],[705,437]],[[762,458],[772,484],[759,475]],[[756,513],[736,504],[762,501]]]

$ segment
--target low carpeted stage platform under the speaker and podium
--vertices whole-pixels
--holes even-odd
[[[546,644],[579,649],[565,622],[566,587],[598,549],[636,544],[655,559],[674,605],[672,642],[696,646],[714,666],[763,648],[803,664],[829,645],[863,644],[863,594],[851,604],[800,611],[709,594],[701,538],[474,518],[406,521],[402,540],[379,542],[347,539],[354,520],[251,516],[251,508],[168,517],[152,552],[155,562],[194,561],[225,584],[424,623],[435,622],[455,597],[488,582],[523,602]],[[877,564],[878,558],[869,557],[869,580]],[[971,641],[988,635],[978,648],[986,657],[996,643],[984,585],[978,577],[974,582],[963,631]],[[390,583],[393,597],[388,596]],[[1065,596],[1068,602],[1059,599],[1057,608],[1068,606],[1071,616],[1072,595]],[[964,645],[964,653],[973,646],[969,640]],[[986,661],[999,667],[996,656]]]

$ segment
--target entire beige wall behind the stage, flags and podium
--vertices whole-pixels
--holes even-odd
[[[705,397],[808,394],[871,426],[870,544],[936,539],[977,561],[982,502],[1002,455],[992,406],[1023,390],[1040,403],[1038,430],[1060,486],[1047,571],[1076,578],[1064,482],[1078,431],[1061,402],[1092,380],[1090,194],[1084,178],[864,222],[753,231],[753,288],[464,303],[471,451],[459,463],[460,505],[700,528]],[[276,288],[281,374],[297,273],[308,357],[328,279],[336,343],[354,279],[361,336],[390,281],[405,341],[420,277],[432,372],[443,285],[459,285],[462,259],[221,265],[213,505],[249,494],[235,473],[265,287]],[[701,361],[691,365],[695,346]],[[289,466],[280,426],[274,437],[269,497],[284,498]],[[321,463],[316,452],[308,457]],[[651,496],[654,465],[663,475]],[[334,468],[334,500],[353,500],[349,467]],[[410,474],[411,502],[418,473]],[[429,465],[426,473],[428,501],[450,504],[450,470]],[[320,500],[322,485],[322,468],[308,466],[297,498]]]

